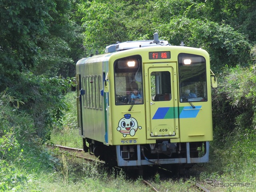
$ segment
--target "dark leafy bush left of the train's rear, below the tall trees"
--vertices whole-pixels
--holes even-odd
[[[24,102],[24,105],[19,107],[19,112],[30,115],[34,121],[32,129],[35,135],[45,142],[49,140],[53,126],[62,126],[60,119],[64,115],[63,111],[68,109],[64,94],[72,80],[22,73],[17,81],[6,92]]]

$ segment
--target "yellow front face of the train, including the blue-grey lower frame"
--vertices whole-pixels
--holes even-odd
[[[138,48],[113,54],[109,63],[109,139],[119,166],[208,161],[212,112],[206,51]]]

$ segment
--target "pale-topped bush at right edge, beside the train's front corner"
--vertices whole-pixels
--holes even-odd
[[[212,96],[216,137],[256,127],[256,73],[250,68],[226,68]]]

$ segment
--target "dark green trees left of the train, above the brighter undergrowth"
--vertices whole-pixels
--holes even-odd
[[[44,139],[67,108],[63,97],[71,80],[55,76],[73,76],[83,52],[73,2],[0,2],[0,91],[23,102],[17,113],[30,116],[33,125],[26,127]]]

